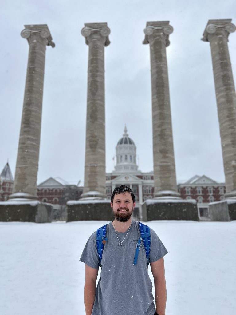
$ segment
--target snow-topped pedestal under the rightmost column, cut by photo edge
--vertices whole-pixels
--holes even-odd
[[[236,199],[209,203],[209,218],[222,222],[236,220]]]

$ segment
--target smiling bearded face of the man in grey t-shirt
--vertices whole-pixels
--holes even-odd
[[[135,202],[133,203],[131,194],[129,192],[121,192],[119,195],[115,195],[111,208],[115,219],[120,222],[127,222],[132,215]]]

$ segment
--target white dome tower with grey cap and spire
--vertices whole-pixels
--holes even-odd
[[[136,164],[136,146],[133,140],[127,134],[125,125],[123,137],[117,142],[116,150],[116,165],[117,172],[137,172],[138,165]]]

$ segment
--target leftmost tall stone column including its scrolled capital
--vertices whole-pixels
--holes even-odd
[[[45,52],[46,45],[54,47],[55,44],[46,24],[25,25],[21,36],[29,43],[29,57],[14,188],[10,198],[37,199]]]

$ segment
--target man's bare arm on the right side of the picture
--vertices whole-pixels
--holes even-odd
[[[166,279],[164,258],[151,262],[151,271],[155,284],[156,312],[159,315],[166,314]]]

